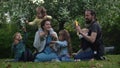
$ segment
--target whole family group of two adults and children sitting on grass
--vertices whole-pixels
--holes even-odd
[[[14,35],[12,50],[14,52],[13,61],[33,61],[33,62],[72,62],[80,60],[103,60],[104,47],[102,42],[102,33],[99,23],[97,23],[96,13],[93,10],[85,11],[85,20],[87,27],[81,29],[76,25],[76,31],[81,39],[81,49],[77,53],[72,54],[70,34],[67,30],[60,30],[59,37],[51,26],[52,17],[47,15],[44,7],[36,8],[36,18],[32,22],[27,22],[28,25],[38,26],[36,31],[33,46],[35,52],[26,48],[26,28],[23,28],[24,39],[19,32]]]

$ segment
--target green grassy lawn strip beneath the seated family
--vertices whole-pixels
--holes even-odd
[[[5,62],[0,59],[0,68],[120,68],[120,55],[106,55],[103,61],[80,62]]]

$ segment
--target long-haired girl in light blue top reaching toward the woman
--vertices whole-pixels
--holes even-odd
[[[67,30],[61,30],[59,32],[59,41],[52,41],[51,43],[56,44],[58,48],[58,56],[60,61],[71,61],[71,45],[70,35]]]

